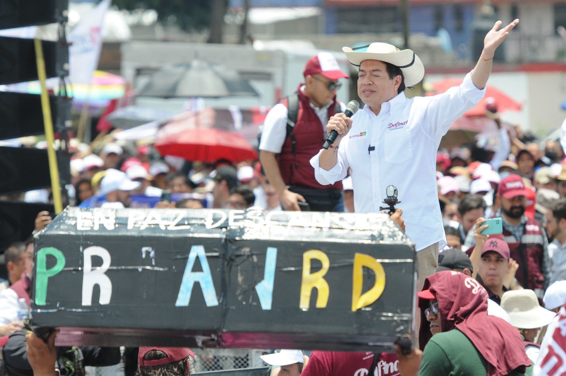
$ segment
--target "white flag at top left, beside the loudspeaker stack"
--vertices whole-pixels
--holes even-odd
[[[102,20],[110,7],[110,0],[102,0],[80,20],[68,36],[69,76],[72,84],[90,84],[93,72],[98,65],[102,47]]]

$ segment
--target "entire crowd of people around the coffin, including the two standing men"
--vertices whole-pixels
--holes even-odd
[[[554,334],[566,302],[566,134],[542,144],[501,121],[490,101],[485,115],[498,129],[495,142],[479,138],[437,151],[452,121],[482,99],[495,49],[517,23],[500,30],[496,23],[464,82],[430,99],[404,96],[424,74],[411,50],[383,43],[344,48],[366,104],[352,118],[336,99],[348,75],[331,54],[317,54],[305,67],[305,83],[268,113],[259,161],[200,163],[159,156],[147,145],[76,144],[65,204],[379,212],[392,183],[403,210],[391,219],[417,251],[418,349],[396,344],[396,353],[310,356],[283,349],[262,357],[270,373],[553,374],[542,373],[552,356],[541,343]],[[321,150],[332,131],[335,142]],[[49,202],[50,194],[31,191],[25,200]],[[49,212],[38,213],[35,232],[50,221]],[[85,365],[119,361],[117,349],[55,347],[56,332],[27,332],[33,238],[12,244],[5,259],[0,347],[7,374],[82,374]],[[181,376],[190,374],[194,353],[149,347],[135,349],[134,357],[140,375]]]

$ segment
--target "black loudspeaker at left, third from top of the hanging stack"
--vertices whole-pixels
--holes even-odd
[[[55,132],[61,132],[68,119],[71,101],[49,96]],[[45,133],[41,98],[37,94],[0,92],[0,140]]]

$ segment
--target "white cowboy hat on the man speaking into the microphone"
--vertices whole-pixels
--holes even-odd
[[[400,67],[405,78],[405,86],[418,84],[424,76],[423,63],[412,50],[402,50],[392,44],[374,42],[354,49],[342,47],[342,51],[358,71],[364,60],[379,60]]]

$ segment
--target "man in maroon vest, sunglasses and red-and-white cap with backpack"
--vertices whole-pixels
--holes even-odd
[[[259,159],[284,210],[299,210],[298,201],[302,201],[312,211],[343,211],[342,183],[320,185],[309,161],[324,143],[328,119],[345,110],[344,104],[336,100],[336,91],[341,86],[338,79],[349,76],[326,52],[309,59],[303,75],[305,83],[299,84],[297,92],[267,114]],[[288,134],[288,120],[293,113],[297,113],[297,121]]]

